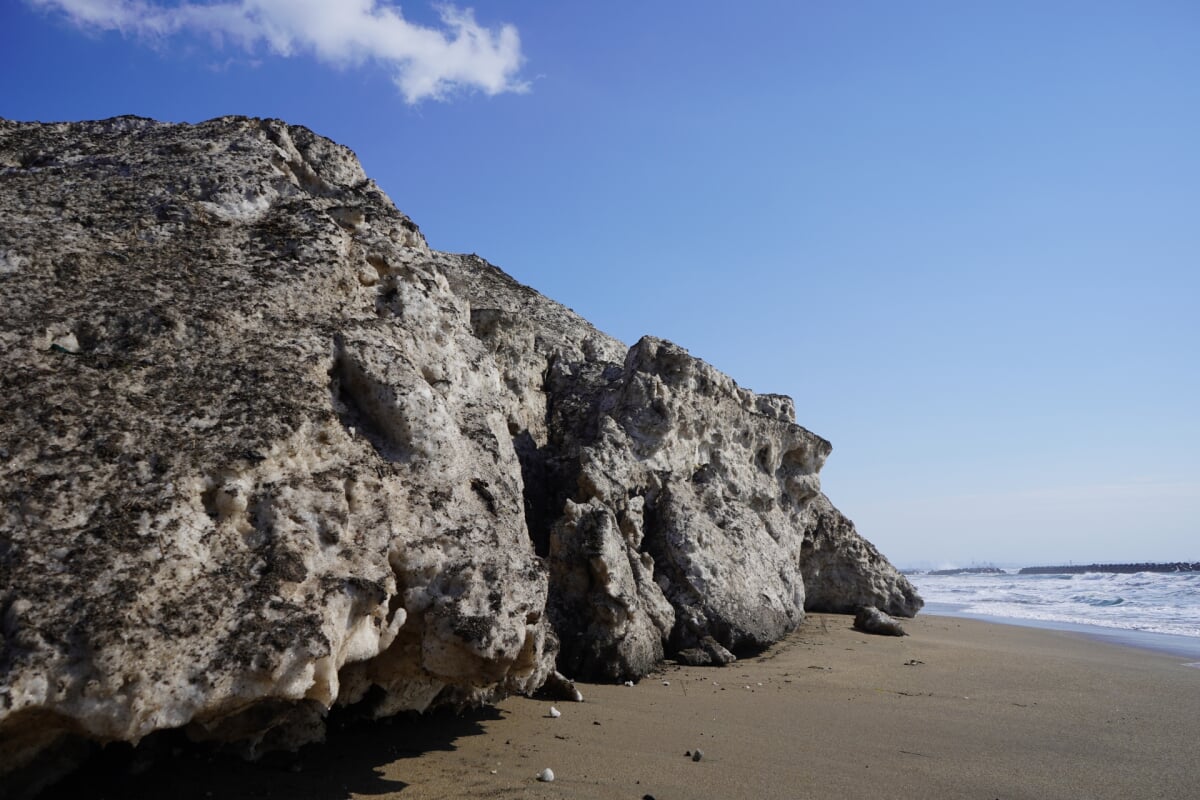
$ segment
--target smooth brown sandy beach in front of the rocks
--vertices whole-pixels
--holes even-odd
[[[762,656],[582,685],[584,703],[349,723],[256,765],[108,758],[49,796],[1200,796],[1200,668],[1056,631],[925,615],[905,626],[876,637],[812,615]],[[547,766],[556,780],[539,783]]]

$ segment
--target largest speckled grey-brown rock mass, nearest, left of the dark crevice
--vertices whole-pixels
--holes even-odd
[[[0,764],[552,670],[500,375],[353,154],[0,122]]]

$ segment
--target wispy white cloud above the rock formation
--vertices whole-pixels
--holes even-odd
[[[200,34],[281,56],[310,54],[336,66],[383,65],[404,100],[444,100],[457,90],[523,92],[516,28],[485,28],[470,8],[438,7],[439,28],[404,19],[379,0],[28,0],[90,30],[161,41]]]

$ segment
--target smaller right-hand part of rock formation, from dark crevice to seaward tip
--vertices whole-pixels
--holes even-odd
[[[912,615],[912,585],[820,491],[792,401],[682,348],[628,351],[475,257],[443,271],[509,390],[530,536],[568,674],[637,678],[707,638],[754,650],[805,609]]]

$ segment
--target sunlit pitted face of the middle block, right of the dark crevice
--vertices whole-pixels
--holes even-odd
[[[552,372],[556,402],[581,385],[574,373]],[[606,510],[626,560],[644,575],[637,610],[670,646],[712,636],[730,650],[761,648],[799,624],[805,515],[828,443],[682,348],[653,338],[638,342],[595,391],[562,405],[554,423],[565,449],[577,452],[569,503]],[[552,542],[571,533],[556,524]],[[552,569],[552,614],[556,589],[570,595],[553,576]],[[673,619],[654,613],[660,596]],[[575,616],[554,619],[566,657]],[[587,632],[577,638],[592,646]],[[629,672],[644,667],[630,661]]]

